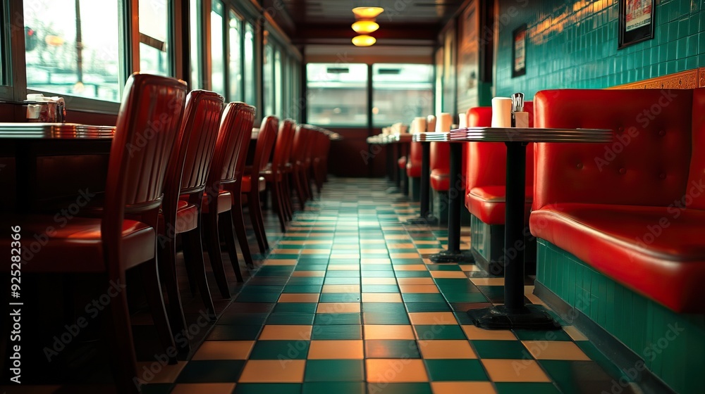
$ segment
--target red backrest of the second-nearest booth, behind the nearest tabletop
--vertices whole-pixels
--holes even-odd
[[[534,103],[525,101],[529,113],[529,127],[534,127]],[[489,127],[492,123],[491,107],[470,108],[468,127]],[[505,186],[507,177],[507,146],[494,142],[468,142],[467,193],[475,186]],[[534,181],[534,149],[527,146],[526,186]]]

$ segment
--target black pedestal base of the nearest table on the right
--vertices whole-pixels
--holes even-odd
[[[467,311],[472,322],[481,329],[489,330],[557,330],[560,324],[545,310],[526,305],[520,312],[510,312],[504,305]]]

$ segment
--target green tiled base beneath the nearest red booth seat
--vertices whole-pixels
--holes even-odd
[[[542,239],[537,259],[537,281],[642,357],[668,386],[705,393],[705,316],[675,313]],[[672,328],[678,336],[668,334]]]

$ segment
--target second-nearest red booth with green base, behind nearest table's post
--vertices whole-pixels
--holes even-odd
[[[529,127],[534,125],[532,101],[525,101],[529,113]],[[467,111],[469,127],[489,127],[492,122],[491,107],[470,108]],[[472,215],[470,248],[477,264],[492,274],[502,274],[500,260],[504,249],[505,179],[507,177],[507,147],[494,142],[468,142],[466,158],[465,208]],[[527,146],[526,158],[526,217],[531,212],[534,184],[534,148]],[[525,254],[527,272],[534,268],[535,241]]]

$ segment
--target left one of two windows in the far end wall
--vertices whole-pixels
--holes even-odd
[[[367,65],[309,63],[307,122],[367,126]]]

